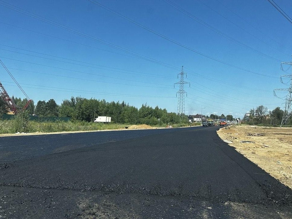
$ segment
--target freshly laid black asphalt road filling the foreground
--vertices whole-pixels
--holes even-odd
[[[292,218],[218,127],[0,138],[0,218]]]

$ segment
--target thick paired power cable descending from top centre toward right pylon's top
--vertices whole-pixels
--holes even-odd
[[[240,45],[240,46],[242,46],[242,47],[244,47],[244,48],[246,48],[246,49],[248,49],[248,50],[251,50],[251,51],[253,51],[253,52],[255,52],[255,53],[259,54],[259,55],[262,55],[262,56],[264,56],[264,57],[266,57],[266,58],[272,59],[272,60],[277,61],[277,62],[280,62],[280,61],[281,61],[281,60],[276,59],[276,58],[274,58],[274,57],[272,57],[272,56],[269,56],[269,55],[267,55],[267,54],[264,54],[264,53],[260,52],[259,50],[256,50],[256,49],[254,49],[254,48],[252,48],[252,47],[249,47],[249,46],[246,45],[245,43],[242,43],[242,42],[240,42],[239,40],[236,40],[235,38],[233,38],[233,37],[227,35],[226,33],[223,33],[222,31],[216,29],[215,27],[209,25],[208,23],[206,23],[206,22],[204,22],[203,20],[197,18],[196,16],[194,16],[194,15],[191,14],[190,12],[188,12],[188,11],[186,11],[185,9],[181,8],[179,5],[176,5],[175,3],[173,3],[173,2],[171,2],[171,1],[169,1],[169,0],[162,0],[162,1],[165,2],[166,4],[172,6],[172,7],[173,7],[174,9],[176,9],[177,11],[179,11],[179,12],[183,13],[184,15],[188,16],[189,18],[195,20],[196,22],[202,24],[203,26],[207,27],[208,29],[210,29],[210,30],[214,31],[215,33],[219,34],[220,36],[223,36],[224,38],[226,38],[226,39],[228,39],[228,40],[231,40],[232,42],[234,42],[234,43],[236,43],[236,44],[238,44],[238,45]],[[205,5],[206,5],[206,4],[205,4]]]

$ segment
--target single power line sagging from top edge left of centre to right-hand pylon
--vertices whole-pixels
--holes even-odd
[[[180,47],[183,47],[183,48],[185,48],[185,49],[187,49],[187,50],[190,50],[190,51],[192,51],[192,52],[194,52],[194,53],[196,53],[196,54],[199,54],[199,55],[201,55],[201,56],[207,57],[207,58],[209,58],[209,59],[211,59],[211,60],[214,60],[214,61],[217,61],[217,62],[219,62],[219,63],[222,63],[222,64],[225,64],[225,65],[231,66],[231,67],[233,67],[233,68],[240,69],[240,70],[242,70],[242,71],[250,72],[250,73],[252,73],[252,74],[256,74],[256,75],[262,75],[262,76],[269,77],[269,78],[276,78],[276,77],[274,77],[274,76],[265,75],[265,74],[261,74],[261,73],[255,72],[255,71],[251,71],[251,70],[245,69],[245,68],[241,68],[241,67],[236,66],[236,65],[234,65],[234,64],[230,64],[230,63],[228,63],[228,62],[221,61],[221,60],[219,60],[219,59],[217,59],[217,58],[211,57],[211,56],[209,56],[209,55],[207,55],[207,54],[204,54],[204,53],[199,52],[199,51],[197,51],[197,50],[195,50],[195,49],[192,49],[192,48],[190,48],[190,47],[188,47],[188,46],[186,46],[186,45],[184,45],[184,44],[182,44],[182,43],[179,43],[179,42],[177,42],[177,41],[175,41],[175,40],[172,40],[172,39],[170,39],[169,37],[162,35],[161,33],[158,33],[158,32],[156,32],[156,31],[154,31],[154,30],[151,30],[150,28],[148,28],[148,27],[146,27],[146,26],[144,26],[144,25],[142,25],[142,24],[140,24],[140,23],[138,23],[138,22],[136,22],[136,21],[134,21],[134,20],[132,20],[132,19],[130,19],[130,18],[128,18],[128,17],[126,17],[126,16],[124,16],[124,15],[118,13],[118,12],[116,12],[116,11],[114,11],[113,9],[110,9],[110,8],[108,8],[108,7],[106,7],[106,6],[102,5],[102,4],[100,4],[99,2],[96,2],[96,1],[94,1],[94,0],[88,0],[88,1],[89,1],[89,2],[92,2],[93,4],[98,5],[99,7],[103,8],[103,9],[109,11],[109,12],[112,12],[113,14],[115,14],[115,15],[117,15],[117,16],[119,16],[119,17],[121,17],[121,18],[123,18],[123,19],[125,19],[125,20],[127,20],[127,21],[129,21],[129,22],[131,22],[131,23],[133,23],[133,24],[135,24],[135,25],[141,27],[141,28],[143,28],[144,30],[147,30],[147,31],[149,31],[149,32],[151,32],[151,33],[154,33],[155,35],[160,36],[160,37],[162,37],[163,39],[168,40],[168,41],[170,41],[170,42],[172,42],[172,43],[175,43],[176,45],[179,45]]]

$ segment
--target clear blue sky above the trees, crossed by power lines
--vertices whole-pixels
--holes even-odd
[[[203,109],[203,114],[215,112],[220,114],[224,113],[226,115],[232,112],[233,116],[242,117],[246,111],[252,107],[258,106],[259,104],[264,104],[269,109],[273,109],[276,106],[282,107],[281,102],[283,102],[283,100],[273,96],[274,88],[287,87],[280,83],[280,78],[255,75],[203,57],[162,39],[161,37],[144,30],[87,0],[5,1],[21,9],[25,9],[47,19],[51,19],[68,27],[82,31],[98,39],[106,40],[107,42],[136,53],[174,65],[178,69],[183,65],[186,71],[190,70],[204,75],[207,78],[216,78],[217,80],[226,82],[214,82],[188,74],[186,80],[189,80],[193,89],[189,89],[188,85],[186,85],[188,97],[192,98],[186,98],[186,114],[200,113],[203,106],[206,107]],[[291,68],[286,73],[280,70],[279,61],[271,60],[220,36],[195,20],[190,19],[185,14],[177,11],[164,1],[98,0],[98,2],[146,27],[151,28],[152,30],[155,30],[158,33],[214,58],[265,75],[279,77],[281,74],[290,74]],[[235,23],[237,26],[230,23],[230,21],[224,19],[198,0],[173,0],[173,2],[207,24],[215,27],[241,43],[244,43],[252,49],[258,50],[281,61],[291,61],[290,54],[292,54],[292,52],[290,50],[292,48],[292,25],[285,20],[268,1],[247,0],[244,1],[243,4],[242,1],[220,0],[221,3],[228,6],[229,9],[244,18],[251,25],[258,28],[262,33],[230,12],[217,0],[202,0],[202,2],[205,2],[205,4]],[[291,15],[291,10],[289,10],[292,8],[291,1],[275,0],[275,2],[280,5],[288,15]],[[0,4],[3,4],[3,2],[1,1]],[[0,35],[0,44],[2,44],[0,46],[0,56],[3,57],[1,59],[10,69],[16,80],[23,86],[23,89],[28,96],[35,102],[38,100],[48,100],[53,98],[58,104],[60,104],[63,99],[68,99],[71,96],[83,96],[86,98],[93,97],[96,99],[106,99],[107,101],[124,100],[125,102],[137,107],[140,107],[142,103],[147,102],[150,106],[155,107],[158,105],[161,108],[166,108],[168,111],[176,112],[177,90],[173,88],[173,84],[178,81],[176,75],[179,73],[179,70],[166,68],[165,66],[139,58],[129,57],[128,54],[122,51],[44,23],[30,16],[8,9],[3,5],[0,5],[0,9],[1,22],[10,24],[7,25],[0,23],[2,29],[2,34]],[[15,26],[54,37],[27,31]],[[238,26],[250,34],[240,29]],[[271,38],[273,38],[273,40]],[[76,43],[69,41],[74,41]],[[36,54],[20,49],[87,62],[90,64]],[[24,54],[14,53],[7,50]],[[54,61],[25,54],[87,66]],[[128,73],[134,74],[127,74],[125,73],[126,71],[123,70],[118,70],[120,72],[116,72],[98,69],[105,67],[92,64],[126,69],[130,70],[127,71]],[[289,66],[283,67],[284,69],[287,69]],[[31,71],[45,74],[34,73]],[[9,82],[12,82],[12,79],[3,68],[0,69],[0,72],[0,80],[5,84],[5,88],[9,94],[11,96],[24,97],[17,87],[11,86],[13,84]],[[145,76],[145,74],[148,74],[148,76]],[[66,76],[67,78],[55,75]],[[153,77],[155,75],[160,77]],[[201,85],[205,87],[202,87]],[[253,90],[238,87],[238,85],[251,87]],[[212,90],[209,90],[208,88]],[[259,89],[261,91],[259,91]],[[115,93],[118,94],[118,96],[109,93]],[[125,95],[122,96],[120,94]],[[139,97],[134,97],[133,95],[138,95]],[[279,96],[284,96],[284,94],[279,93]]]

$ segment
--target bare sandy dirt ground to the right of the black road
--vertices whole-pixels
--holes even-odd
[[[231,147],[292,189],[292,128],[229,126],[217,133]]]

